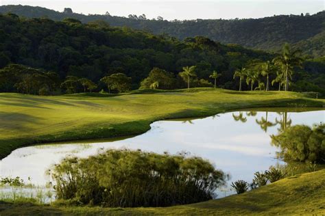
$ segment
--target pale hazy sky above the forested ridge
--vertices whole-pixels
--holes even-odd
[[[147,18],[163,16],[168,20],[195,18],[259,18],[274,14],[314,14],[325,8],[325,0],[0,0],[0,5],[22,4],[50,8],[62,12],[72,8],[83,14],[115,16],[146,14]]]

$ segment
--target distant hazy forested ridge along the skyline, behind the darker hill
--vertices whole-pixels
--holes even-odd
[[[183,40],[187,37],[204,36],[225,44],[240,44],[253,49],[265,51],[280,51],[284,42],[304,51],[306,55],[322,57],[325,55],[324,21],[325,12],[317,14],[280,15],[265,18],[246,18],[233,20],[202,20],[166,21],[158,16],[147,19],[145,14],[136,16],[130,14],[128,18],[99,14],[77,14],[66,9],[56,12],[47,8],[23,5],[0,6],[0,13],[12,12],[29,18],[50,18],[62,21],[64,18],[77,18],[82,23],[102,20],[115,27],[131,27],[154,34],[165,34]]]

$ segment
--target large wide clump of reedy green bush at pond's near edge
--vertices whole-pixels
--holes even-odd
[[[108,150],[66,158],[50,171],[59,199],[110,207],[171,206],[210,200],[225,175],[200,157]]]

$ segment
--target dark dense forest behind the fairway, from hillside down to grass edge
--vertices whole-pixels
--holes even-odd
[[[52,94],[60,87],[69,93],[110,91],[105,77],[122,83],[115,85],[115,90],[123,92],[140,84],[146,87],[151,79],[149,72],[151,76],[171,78],[165,87],[160,85],[163,88],[186,87],[189,83],[182,81],[184,76],[178,76],[186,66],[195,68],[191,87],[212,86],[216,79],[211,74],[215,71],[221,75],[217,76],[219,87],[237,90],[235,70],[275,57],[201,36],[180,41],[128,27],[110,27],[104,21],[83,24],[73,18],[51,21],[0,15],[0,38],[0,91],[29,94]],[[324,68],[324,58],[306,60],[293,73],[292,90],[324,93]],[[270,81],[275,78],[270,76]],[[259,80],[265,77],[255,81]],[[46,90],[42,83],[49,83]],[[76,83],[79,87],[74,86]],[[243,84],[243,90],[248,89],[251,86]]]

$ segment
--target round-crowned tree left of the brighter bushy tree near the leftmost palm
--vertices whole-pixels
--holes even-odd
[[[119,72],[108,77],[101,78],[101,81],[108,85],[108,92],[110,90],[117,90],[117,92],[127,92],[131,88],[131,78]]]

